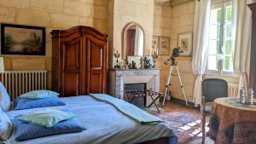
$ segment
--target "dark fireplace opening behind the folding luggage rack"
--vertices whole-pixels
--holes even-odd
[[[124,84],[124,98],[126,101],[126,92],[129,90],[145,90],[147,89],[147,83],[137,83],[137,84]],[[135,101],[132,101],[131,103],[137,107],[145,107],[146,103],[146,97],[139,97]]]

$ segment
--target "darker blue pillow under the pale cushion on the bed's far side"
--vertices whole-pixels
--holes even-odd
[[[15,110],[30,109],[37,107],[55,107],[66,105],[57,96],[49,97],[45,99],[15,99]]]

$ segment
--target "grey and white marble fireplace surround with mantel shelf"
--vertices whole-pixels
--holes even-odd
[[[109,72],[109,94],[124,100],[125,84],[147,84],[147,89],[160,90],[160,69],[112,69]],[[147,105],[150,100],[147,99]]]

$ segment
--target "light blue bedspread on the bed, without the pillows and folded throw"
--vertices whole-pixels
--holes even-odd
[[[28,141],[15,141],[15,130],[6,144],[130,144],[159,139],[177,138],[164,123],[156,125],[138,124],[117,111],[113,106],[96,101],[90,96],[61,98],[67,105],[60,107],[42,107],[7,112],[11,119],[20,114],[37,112],[43,109],[68,109],[77,115],[87,130],[79,133],[52,135]]]

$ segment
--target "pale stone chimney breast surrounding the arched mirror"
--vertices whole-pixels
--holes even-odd
[[[122,51],[122,32],[130,22],[142,26],[145,32],[144,52],[148,55],[153,35],[154,0],[109,0],[109,8],[113,8],[108,14],[110,67],[115,65],[113,52]]]

